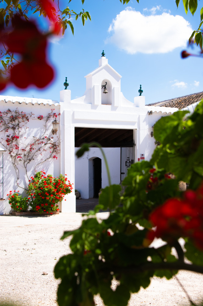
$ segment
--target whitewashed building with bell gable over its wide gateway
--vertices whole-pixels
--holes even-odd
[[[102,145],[109,163],[112,184],[120,184],[133,162],[149,160],[155,149],[152,126],[162,116],[177,111],[177,107],[145,106],[145,97],[140,95],[128,101],[121,91],[121,76],[109,64],[104,54],[99,66],[85,76],[86,91],[80,98],[71,100],[71,91],[60,91],[60,102],[44,99],[0,96],[1,111],[15,110],[33,112],[35,119],[28,123],[27,137],[40,135],[43,127],[39,116],[46,116],[51,109],[60,116],[59,129],[53,140],[60,140],[60,153],[46,161],[47,152],[31,160],[27,166],[28,177],[35,171],[45,170],[58,176],[67,174],[70,182],[80,191],[81,197],[95,197],[100,188],[108,185],[107,173],[101,151],[92,147],[84,156],[76,158],[75,151],[84,142],[97,141]],[[67,85],[67,84],[66,84]],[[141,89],[141,88],[140,88]],[[106,92],[106,93],[105,93]],[[47,122],[46,135],[52,135],[52,120]],[[0,142],[6,137],[0,134]],[[26,141],[26,140],[25,140]],[[20,168],[18,186],[16,172],[6,148],[0,144],[0,214],[10,211],[7,194],[27,186],[27,177]],[[22,170],[22,171],[21,171]],[[22,187],[22,188],[21,188]],[[20,189],[21,188],[21,189]],[[64,201],[66,199],[66,201]],[[66,195],[60,210],[76,211],[74,192]]]

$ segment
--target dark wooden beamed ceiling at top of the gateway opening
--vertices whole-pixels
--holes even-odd
[[[75,147],[91,141],[98,142],[103,148],[121,147],[123,144],[133,142],[133,130],[75,128]]]

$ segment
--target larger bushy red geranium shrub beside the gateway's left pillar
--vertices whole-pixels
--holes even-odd
[[[37,172],[28,186],[29,205],[33,211],[52,214],[52,211],[59,211],[57,203],[72,189],[72,184],[62,174],[55,178],[51,174],[46,176],[43,171]]]

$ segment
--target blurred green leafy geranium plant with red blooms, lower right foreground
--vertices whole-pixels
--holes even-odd
[[[203,102],[183,121],[187,113],[161,118],[154,128],[161,144],[149,162],[131,166],[124,194],[119,185],[106,187],[81,227],[64,233],[61,239],[72,236],[72,254],[55,266],[55,277],[61,278],[59,306],[94,305],[98,293],[105,305],[125,306],[130,294],[147,288],[153,276],[170,279],[178,270],[203,273]],[[78,155],[88,150],[84,144]],[[180,180],[190,189],[180,192]],[[96,213],[108,208],[109,217],[97,220]],[[150,247],[155,237],[166,244]]]

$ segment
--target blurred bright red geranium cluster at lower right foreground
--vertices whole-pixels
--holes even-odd
[[[196,191],[187,190],[183,199],[172,198],[157,207],[150,215],[156,226],[148,233],[148,239],[160,237],[173,242],[179,237],[190,237],[203,249],[203,185]]]

